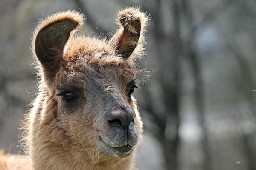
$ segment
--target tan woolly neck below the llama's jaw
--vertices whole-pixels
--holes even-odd
[[[84,152],[72,152],[52,147],[48,150],[32,150],[33,169],[35,170],[134,170],[133,156],[123,159],[105,160],[95,163]],[[40,151],[38,151],[40,150]]]

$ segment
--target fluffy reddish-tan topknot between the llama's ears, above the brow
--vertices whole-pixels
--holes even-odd
[[[137,71],[130,62],[116,54],[105,41],[90,37],[74,37],[72,44],[65,49],[64,66],[69,71],[95,70],[102,73],[106,70],[129,75]]]

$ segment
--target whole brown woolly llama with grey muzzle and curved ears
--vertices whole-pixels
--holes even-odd
[[[28,158],[20,162],[29,164],[17,168],[136,169],[143,129],[132,94],[148,16],[138,8],[119,11],[119,28],[108,41],[74,35],[83,22],[79,12],[65,11],[36,28],[32,55],[39,92],[23,124]],[[0,167],[7,168],[3,157]]]

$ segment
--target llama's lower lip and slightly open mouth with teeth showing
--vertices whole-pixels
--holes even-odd
[[[127,142],[125,142],[125,144],[121,147],[112,147],[104,142],[100,136],[99,138],[104,150],[108,153],[108,155],[111,155],[115,158],[124,158],[130,155],[134,149],[134,146],[129,145]]]

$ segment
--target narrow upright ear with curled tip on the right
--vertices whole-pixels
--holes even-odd
[[[120,28],[108,44],[125,59],[128,59],[131,54],[142,54],[144,52],[144,33],[147,22],[148,16],[140,12],[138,8],[127,8],[119,11],[117,24]]]

